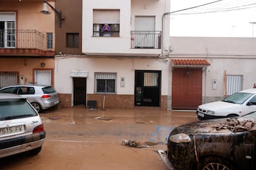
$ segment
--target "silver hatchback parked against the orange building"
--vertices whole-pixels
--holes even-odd
[[[59,103],[57,92],[53,86],[48,85],[6,86],[0,89],[0,93],[18,94],[19,96],[27,97],[38,113]]]

